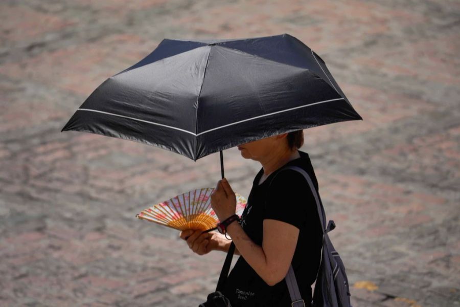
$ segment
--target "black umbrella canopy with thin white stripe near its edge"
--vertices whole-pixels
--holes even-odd
[[[62,131],[146,143],[196,161],[273,135],[358,119],[325,62],[282,34],[163,39],[97,87]]]

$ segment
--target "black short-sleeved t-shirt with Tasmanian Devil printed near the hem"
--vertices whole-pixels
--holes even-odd
[[[299,153],[301,158],[291,160],[284,166],[293,165],[304,169],[318,191],[318,182],[308,153],[300,150]],[[280,169],[281,167],[272,172],[259,185],[263,174],[261,168],[252,183],[240,225],[249,238],[260,246],[262,246],[265,218],[283,221],[300,229],[292,268],[305,305],[310,306],[311,284],[315,281],[318,271],[323,232],[316,201],[308,182],[301,173],[292,169],[283,170],[275,176]],[[232,307],[291,305],[286,280],[268,286],[242,256],[238,258],[235,267],[228,275],[223,292],[231,300]]]

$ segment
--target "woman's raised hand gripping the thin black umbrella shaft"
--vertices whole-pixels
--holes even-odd
[[[217,187],[211,194],[211,206],[214,212],[216,212],[220,222],[235,214],[235,192],[225,178],[217,182]]]

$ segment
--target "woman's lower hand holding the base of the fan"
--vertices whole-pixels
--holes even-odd
[[[201,230],[187,229],[179,234],[187,241],[189,248],[198,255],[204,255],[219,247],[220,238],[215,232],[201,232]]]

